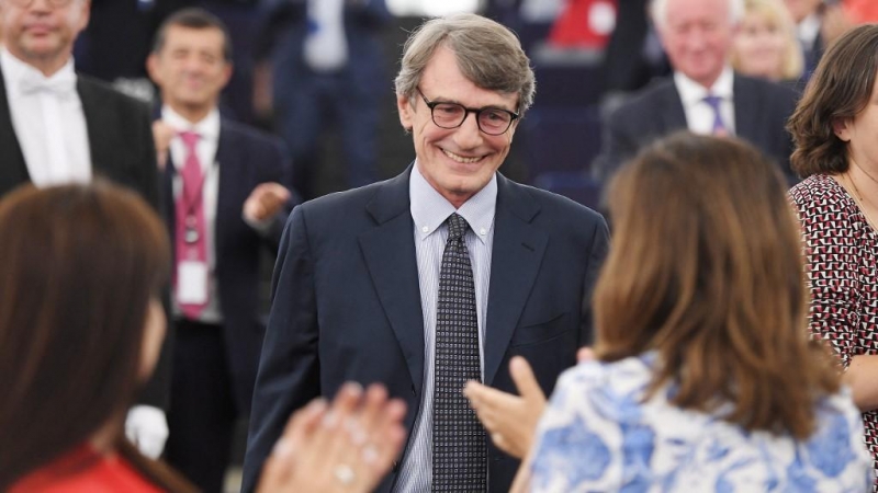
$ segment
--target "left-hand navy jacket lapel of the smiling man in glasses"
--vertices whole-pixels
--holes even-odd
[[[367,205],[376,227],[360,234],[360,249],[381,305],[405,356],[415,389],[424,379],[424,314],[420,307],[414,222],[409,210],[412,167],[381,190]]]

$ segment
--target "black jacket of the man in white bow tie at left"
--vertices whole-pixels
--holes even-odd
[[[97,80],[78,76],[77,92],[82,101],[94,177],[125,185],[140,194],[158,211],[158,172],[149,108]],[[0,72],[0,196],[30,183],[19,139],[12,127],[5,81]],[[167,408],[170,382],[172,331],[168,332],[159,364],[140,402]]]

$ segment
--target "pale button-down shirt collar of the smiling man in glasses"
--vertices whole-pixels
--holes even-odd
[[[444,223],[448,216],[457,211],[466,219],[470,229],[475,232],[475,237],[485,243],[488,232],[494,227],[494,213],[497,207],[497,174],[494,173],[482,190],[455,210],[454,206],[420,174],[418,163],[415,162],[408,179],[408,197],[412,203],[412,218],[421,240],[432,234]]]

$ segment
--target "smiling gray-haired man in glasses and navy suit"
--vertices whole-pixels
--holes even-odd
[[[590,342],[608,246],[600,215],[497,172],[533,92],[518,39],[494,21],[459,14],[412,34],[396,103],[414,163],[305,203],[286,225],[245,491],[290,412],[346,380],[381,382],[410,410],[405,451],[378,491],[508,491],[518,461],[489,443],[463,386],[514,391],[509,359],[521,355],[550,392]],[[350,465],[335,474],[352,482]]]

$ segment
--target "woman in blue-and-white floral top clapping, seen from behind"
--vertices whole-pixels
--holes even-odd
[[[803,261],[785,192],[751,146],[688,133],[620,171],[594,357],[559,379],[516,488],[870,489],[859,412],[802,330]],[[493,424],[493,439],[514,436]]]

